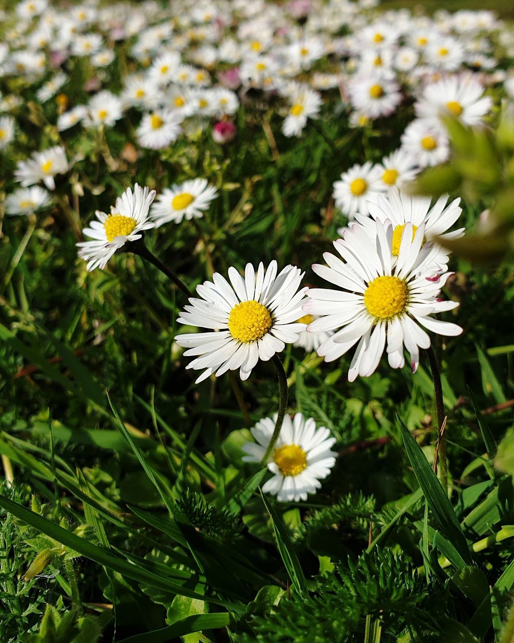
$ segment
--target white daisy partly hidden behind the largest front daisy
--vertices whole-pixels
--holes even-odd
[[[436,237],[456,239],[464,234],[464,228],[446,232],[455,221],[459,219],[462,208],[459,206],[461,199],[455,199],[448,204],[448,195],[443,194],[437,199],[434,206],[430,207],[430,197],[412,196],[398,188],[391,188],[387,195],[379,194],[375,203],[369,203],[369,217],[357,214],[356,220],[365,228],[369,237],[376,236],[374,221],[380,221],[384,226],[387,222],[392,224],[392,262],[394,264],[399,255],[401,235],[405,225],[412,223],[412,233],[415,234],[419,226],[425,226],[423,243],[434,242]],[[448,250],[439,247],[439,255],[434,258],[436,271],[447,269]]]

